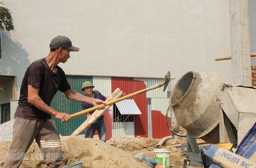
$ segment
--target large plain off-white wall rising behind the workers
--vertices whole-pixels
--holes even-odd
[[[72,52],[66,74],[164,77],[172,88],[188,71],[231,78],[229,1],[226,0],[3,0],[15,32],[2,32],[0,75],[18,76],[46,57],[57,35]],[[17,99],[19,91],[17,92]]]

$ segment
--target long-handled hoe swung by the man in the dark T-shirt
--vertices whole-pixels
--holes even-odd
[[[141,93],[144,93],[144,92],[147,92],[147,91],[154,90],[154,89],[162,87],[162,86],[164,86],[164,92],[165,92],[165,89],[167,88],[167,85],[169,84],[169,81],[170,81],[170,76],[171,76],[170,71],[168,71],[167,74],[165,75],[165,82],[163,82],[163,83],[156,84],[155,86],[151,86],[149,88],[146,88],[146,89],[143,89],[143,90],[140,90],[140,91],[137,91],[137,92],[130,93],[130,94],[128,94],[126,96],[123,96],[123,97],[120,97],[120,98],[118,98],[116,100],[112,100],[112,101],[106,102],[105,104],[100,104],[100,105],[94,106],[94,107],[92,107],[90,109],[82,110],[80,112],[71,114],[70,116],[71,116],[71,118],[78,117],[78,116],[81,116],[83,114],[86,114],[86,113],[89,113],[91,111],[94,111],[96,109],[100,109],[101,107],[110,106],[112,104],[115,104],[116,102],[123,101],[125,99],[130,98],[130,97],[136,96],[138,94],[141,94]]]

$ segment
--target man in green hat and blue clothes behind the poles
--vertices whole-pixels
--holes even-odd
[[[91,84],[90,81],[85,81],[82,84],[81,91],[85,92],[85,96],[94,98],[94,99],[100,99],[102,101],[106,101],[108,97],[105,97],[101,94],[101,92],[97,90],[93,90],[94,85]],[[81,102],[82,109],[90,109],[93,107],[91,104],[83,103]],[[90,113],[87,113],[87,118],[89,118],[94,111],[91,111]],[[99,138],[101,141],[106,142],[106,126],[104,122],[104,116],[101,116],[98,118],[94,123],[88,126],[87,130],[85,131],[85,138],[93,138],[93,135],[95,131],[98,131]]]

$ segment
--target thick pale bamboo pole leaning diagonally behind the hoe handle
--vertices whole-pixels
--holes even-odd
[[[123,94],[124,94],[124,93],[123,93],[119,88],[117,88],[117,89],[110,95],[110,97],[106,100],[106,102],[107,102],[107,101],[111,101],[111,100],[118,99],[119,97],[122,97]],[[112,104],[111,104],[111,105],[112,105]],[[98,109],[97,109],[97,110],[95,110],[95,111],[92,113],[92,115],[91,115],[89,118],[87,118],[87,119],[82,123],[82,125],[79,126],[71,135],[77,136],[77,135],[79,135],[80,133],[82,133],[82,131],[84,131],[85,129],[88,128],[88,126],[87,126],[88,123],[92,124],[94,121],[96,121],[99,117],[101,117],[101,116],[103,115],[103,113],[104,113],[105,111],[107,111],[107,109],[110,108],[111,105],[106,106],[105,109],[101,109],[101,110],[98,110]]]

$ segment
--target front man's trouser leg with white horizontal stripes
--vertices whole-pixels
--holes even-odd
[[[63,155],[61,139],[53,118],[41,121],[41,130],[36,141],[48,168],[61,168]]]

